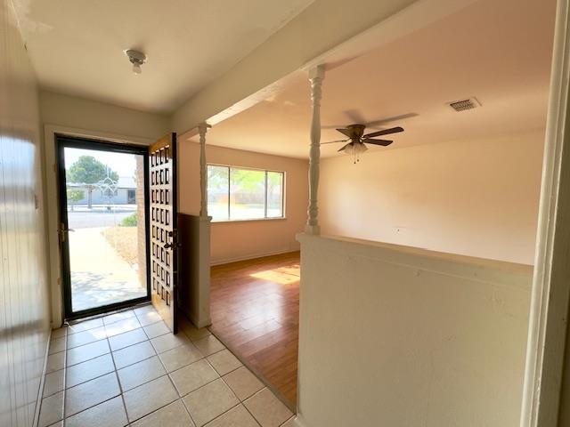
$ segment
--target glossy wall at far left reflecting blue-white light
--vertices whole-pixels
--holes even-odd
[[[0,425],[33,423],[49,334],[37,86],[0,0]]]

